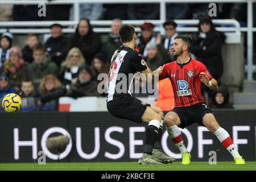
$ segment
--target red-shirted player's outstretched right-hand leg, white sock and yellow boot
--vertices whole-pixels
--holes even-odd
[[[245,160],[238,153],[236,147],[234,146],[232,139],[230,138],[228,132],[218,125],[218,122],[214,118],[212,113],[205,114],[203,117],[203,124],[207,129],[212,132],[218,140],[220,140],[222,146],[229,151],[235,160],[235,164],[245,164]]]

